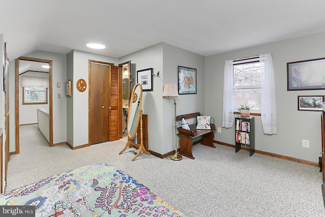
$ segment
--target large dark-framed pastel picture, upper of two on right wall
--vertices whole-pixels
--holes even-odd
[[[325,89],[325,58],[287,63],[287,90]]]

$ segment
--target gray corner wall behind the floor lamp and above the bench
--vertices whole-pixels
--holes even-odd
[[[153,91],[143,92],[142,109],[148,114],[149,150],[165,154],[175,149],[174,104],[163,98],[164,85],[178,85],[178,66],[198,70],[198,94],[180,95],[176,99],[177,114],[204,113],[204,57],[175,46],[159,43],[119,59],[120,63],[131,60],[136,70],[153,68]],[[133,65],[134,66],[134,65]],[[134,69],[132,69],[134,72]],[[134,75],[133,75],[134,76]],[[136,81],[135,81],[136,82]],[[177,139],[178,143],[178,139]]]

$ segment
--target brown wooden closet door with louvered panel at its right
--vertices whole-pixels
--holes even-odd
[[[89,145],[122,138],[118,66],[89,60]]]

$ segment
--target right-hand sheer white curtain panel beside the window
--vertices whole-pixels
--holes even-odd
[[[271,53],[259,55],[262,70],[261,119],[265,134],[277,134],[273,62]]]

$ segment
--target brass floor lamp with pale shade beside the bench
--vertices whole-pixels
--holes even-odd
[[[170,158],[174,161],[182,160],[182,156],[177,154],[177,124],[176,124],[176,101],[175,99],[171,99],[171,97],[178,97],[178,91],[176,84],[165,84],[163,97],[168,97],[168,100],[174,101],[175,106],[175,153],[170,156]]]

